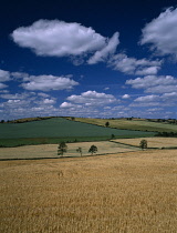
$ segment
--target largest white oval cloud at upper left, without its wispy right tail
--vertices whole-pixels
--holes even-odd
[[[106,38],[92,28],[59,20],[39,20],[15,29],[11,37],[20,47],[30,48],[38,55],[82,55],[106,45]]]

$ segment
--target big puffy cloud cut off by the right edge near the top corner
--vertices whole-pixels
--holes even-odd
[[[177,8],[168,8],[143,29],[140,44],[150,43],[159,55],[177,57]]]

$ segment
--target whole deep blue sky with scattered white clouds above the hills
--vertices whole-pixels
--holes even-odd
[[[177,1],[7,0],[0,120],[177,119]]]

